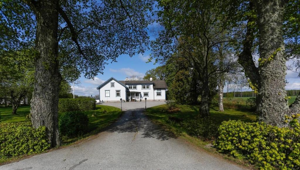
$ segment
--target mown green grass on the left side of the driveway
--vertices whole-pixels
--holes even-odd
[[[9,107],[5,107],[5,108],[2,107],[0,108],[0,111],[1,111],[0,122],[22,122],[22,121],[26,121],[26,115],[28,115],[30,112],[30,106],[20,106],[19,109],[17,110],[17,115],[11,115],[12,108]],[[77,136],[73,138],[67,138],[63,136],[62,137],[63,145],[61,147],[71,145],[74,142],[80,142],[92,135],[101,132],[103,128],[115,122],[116,119],[118,119],[121,116],[122,111],[121,109],[116,107],[96,105],[96,110],[85,111],[84,113],[86,113],[89,118],[87,132],[82,136]],[[58,113],[58,116],[61,114],[62,113]],[[19,159],[24,159],[29,156],[32,155],[22,155],[18,157],[10,157],[10,158],[1,157],[0,165],[11,161],[16,161]]]

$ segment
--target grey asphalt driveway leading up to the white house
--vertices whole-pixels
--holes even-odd
[[[160,104],[164,102],[147,102],[148,107]],[[104,105],[121,107],[121,103]],[[153,124],[142,113],[145,102],[122,103],[122,107],[126,113],[97,136],[0,169],[243,169]]]

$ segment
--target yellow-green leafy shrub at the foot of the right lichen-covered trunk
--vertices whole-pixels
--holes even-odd
[[[263,122],[224,121],[214,146],[221,153],[246,157],[261,169],[300,169],[299,116],[292,116],[291,128]]]

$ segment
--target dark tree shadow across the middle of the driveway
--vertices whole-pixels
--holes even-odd
[[[111,133],[140,132],[143,138],[155,138],[158,140],[177,138],[174,133],[152,123],[143,114],[144,110],[143,108],[127,110],[117,122],[109,126],[105,131]]]

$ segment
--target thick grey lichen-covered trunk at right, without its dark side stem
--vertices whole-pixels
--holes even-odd
[[[284,126],[289,107],[285,91],[286,58],[282,33],[283,4],[280,0],[255,2],[259,28],[259,119]],[[273,56],[273,57],[272,57]],[[270,59],[271,58],[271,59]]]

